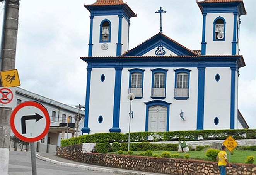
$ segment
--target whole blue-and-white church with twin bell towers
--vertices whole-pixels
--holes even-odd
[[[201,50],[162,33],[128,50],[130,18],[122,0],[96,0],[90,11],[83,133],[243,128],[238,116],[242,0],[197,2],[203,15]],[[161,8],[160,13],[164,12]],[[243,120],[244,121],[244,120]]]

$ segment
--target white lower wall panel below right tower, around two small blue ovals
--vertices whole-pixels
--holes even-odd
[[[215,81],[215,75],[220,80]],[[205,68],[204,129],[230,128],[231,69],[229,67]],[[218,125],[214,118],[218,117]]]

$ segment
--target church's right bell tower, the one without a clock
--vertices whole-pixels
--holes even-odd
[[[202,55],[238,55],[242,0],[197,1],[203,14]]]

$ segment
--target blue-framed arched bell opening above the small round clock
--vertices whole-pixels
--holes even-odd
[[[111,22],[104,19],[100,25],[100,42],[110,42],[111,40]]]

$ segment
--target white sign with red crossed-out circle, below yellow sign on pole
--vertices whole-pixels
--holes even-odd
[[[12,87],[0,87],[0,107],[15,107],[15,89]]]

